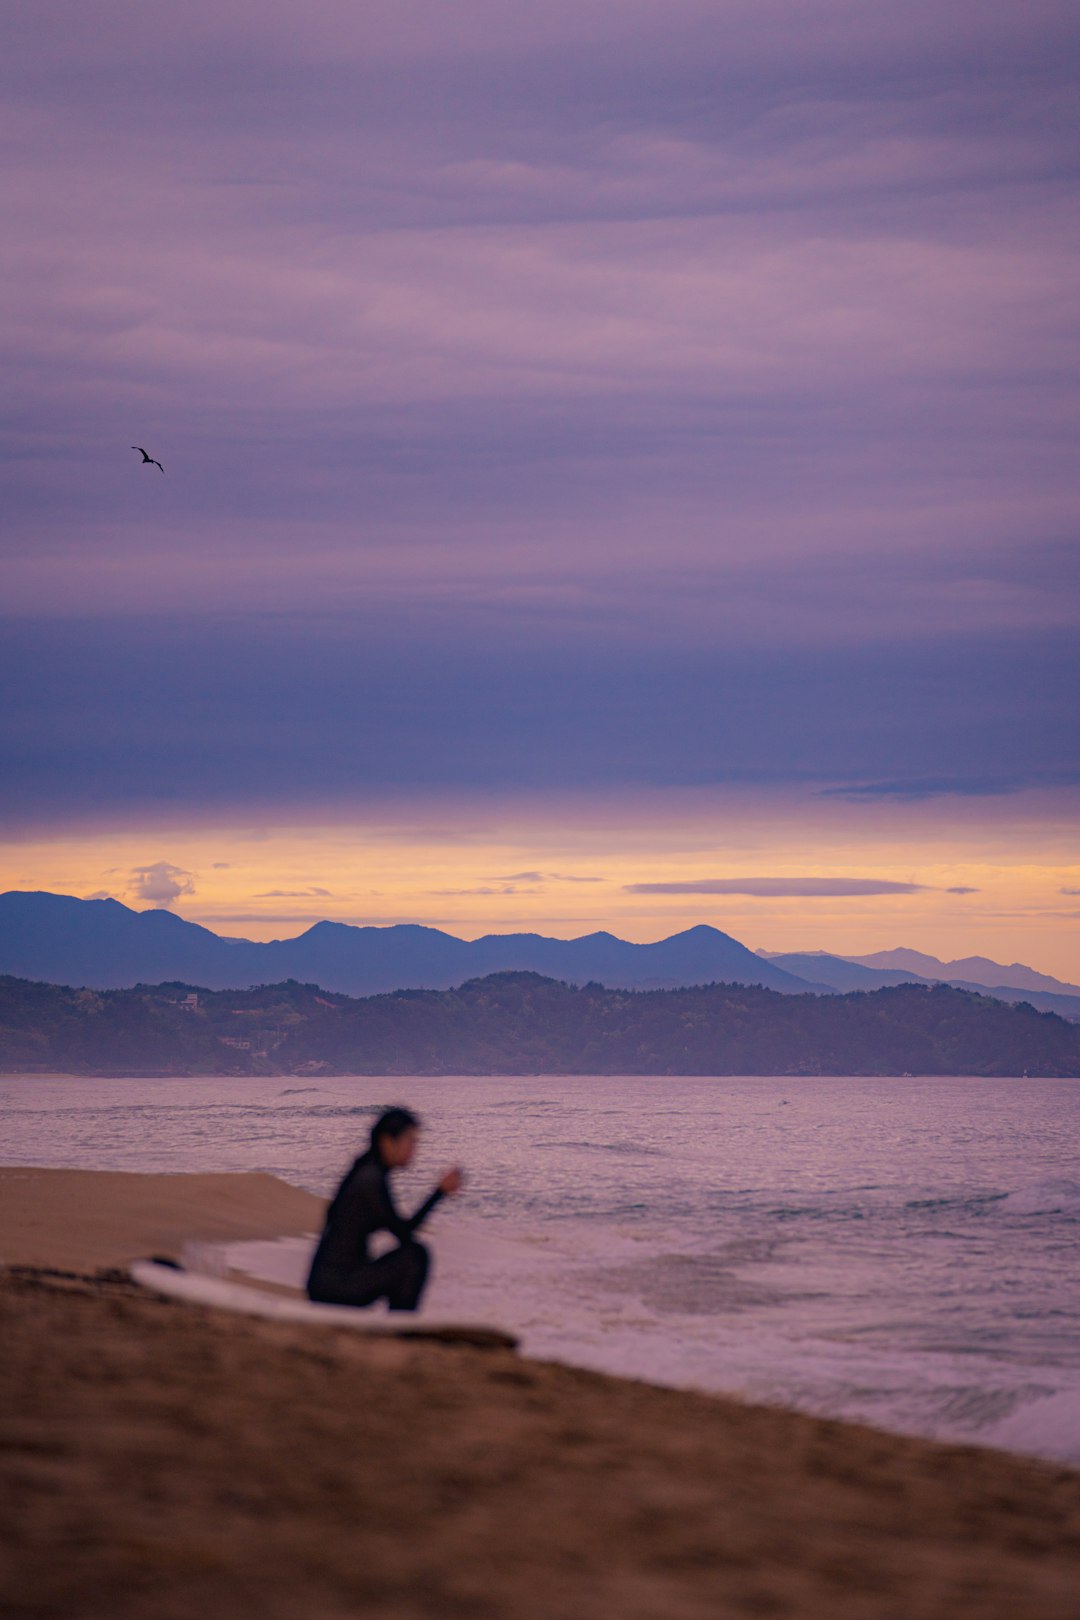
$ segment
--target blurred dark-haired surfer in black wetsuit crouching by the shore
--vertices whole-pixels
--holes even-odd
[[[387,1108],[371,1128],[371,1147],[348,1171],[325,1213],[325,1225],[308,1273],[308,1298],[330,1306],[371,1306],[385,1299],[390,1311],[416,1311],[431,1257],[416,1233],[440,1199],[460,1192],[460,1170],[447,1170],[415,1215],[400,1215],[390,1174],[411,1163],[419,1119],[408,1108]],[[374,1259],[369,1239],[377,1231],[397,1238],[397,1247]]]

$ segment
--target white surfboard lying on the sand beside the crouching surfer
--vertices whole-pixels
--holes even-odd
[[[411,1312],[321,1306],[301,1294],[270,1294],[261,1288],[248,1288],[244,1283],[232,1283],[225,1277],[185,1272],[180,1267],[162,1265],[159,1260],[136,1260],[128,1267],[128,1275],[139,1288],[165,1299],[183,1299],[186,1304],[262,1317],[267,1322],[345,1327],[353,1333],[366,1333],[369,1338],[434,1338],[447,1345],[478,1345],[483,1349],[518,1348],[513,1333],[484,1322],[452,1322],[444,1317],[413,1315]]]

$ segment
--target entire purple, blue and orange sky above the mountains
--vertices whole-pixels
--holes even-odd
[[[0,888],[1080,977],[1072,3],[0,29]]]

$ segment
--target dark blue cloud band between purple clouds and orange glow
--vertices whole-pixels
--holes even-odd
[[[0,685],[19,706],[0,710],[0,818],[37,831],[168,805],[266,826],[283,805],[308,815],[387,792],[423,820],[439,794],[487,787],[761,784],[873,804],[1067,779],[1075,635],[746,650],[656,632],[630,645],[589,612],[552,637],[517,612],[484,627],[457,601],[419,599],[8,619]],[[372,692],[393,695],[392,723]],[[1007,778],[988,779],[991,758]]]

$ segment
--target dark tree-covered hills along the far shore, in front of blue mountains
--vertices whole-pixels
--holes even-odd
[[[947,985],[792,996],[492,974],[353,1000],[295,982],[94,991],[5,977],[0,1071],[1057,1077],[1080,1076],[1080,1027]]]

